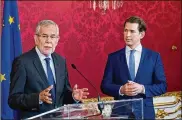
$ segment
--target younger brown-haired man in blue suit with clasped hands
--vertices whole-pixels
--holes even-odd
[[[141,45],[145,31],[140,17],[125,21],[126,47],[109,54],[101,90],[116,100],[143,98],[144,119],[154,119],[152,97],[165,93],[167,84],[160,54]]]

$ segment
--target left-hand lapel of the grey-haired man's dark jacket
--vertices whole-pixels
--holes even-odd
[[[35,55],[34,60],[33,60],[33,64],[34,64],[35,68],[37,69],[39,75],[41,76],[42,80],[46,84],[46,86],[48,86],[49,83],[48,83],[46,74],[44,72],[44,69],[42,67],[42,63],[41,63],[41,61],[39,59],[39,56],[37,55],[35,49],[33,50],[33,52],[34,52],[34,55]]]

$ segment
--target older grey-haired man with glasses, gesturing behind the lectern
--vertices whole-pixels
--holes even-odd
[[[15,59],[11,71],[9,106],[21,118],[55,109],[87,98],[88,89],[70,87],[66,60],[55,53],[58,25],[40,21],[34,35],[35,47]]]

